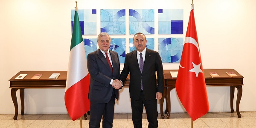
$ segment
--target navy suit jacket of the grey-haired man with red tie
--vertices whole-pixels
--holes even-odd
[[[113,87],[111,86],[111,79],[118,79],[120,76],[120,62],[116,52],[109,50],[113,73],[108,61],[103,53],[97,49],[87,56],[87,68],[90,73],[90,87],[89,99],[90,102],[108,103],[111,99]],[[116,99],[118,99],[118,90],[115,90]]]

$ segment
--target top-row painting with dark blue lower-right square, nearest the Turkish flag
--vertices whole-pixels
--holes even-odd
[[[158,34],[183,34],[183,9],[158,9]]]

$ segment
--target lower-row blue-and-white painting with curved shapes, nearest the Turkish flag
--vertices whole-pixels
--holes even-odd
[[[182,50],[183,38],[158,38],[158,52],[163,63],[179,63]]]

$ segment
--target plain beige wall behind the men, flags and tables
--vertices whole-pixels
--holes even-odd
[[[98,20],[100,9],[184,9],[184,34],[168,37],[185,38],[192,0],[148,1],[108,0],[108,3],[102,3],[102,0],[78,0],[78,7],[97,9]],[[256,44],[253,39],[256,34],[255,4],[255,0],[194,0],[204,69],[233,68],[244,76],[240,111],[256,111],[256,82],[253,79],[256,73]],[[71,41],[70,10],[75,5],[75,0],[1,0],[0,114],[15,112],[8,80],[19,71],[67,70]],[[126,15],[128,16],[128,11]],[[128,18],[126,21],[128,22]],[[98,24],[97,33],[99,26]],[[158,30],[157,27],[155,29]],[[127,34],[125,38],[130,37],[132,36]],[[166,36],[147,35],[147,38],[150,37]],[[155,49],[158,49],[157,43]],[[178,69],[178,64],[163,66],[164,69]],[[65,89],[25,89],[25,114],[67,113],[64,91]],[[207,92],[209,111],[230,111],[229,87],[207,87]],[[235,97],[236,93],[237,91]],[[17,98],[20,98],[19,93]],[[171,101],[172,113],[185,111],[175,89],[171,91]],[[20,112],[20,102],[18,105]],[[122,89],[115,113],[131,113],[128,88]]]

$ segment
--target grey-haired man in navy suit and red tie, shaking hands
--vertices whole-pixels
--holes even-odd
[[[111,38],[108,33],[98,35],[99,49],[87,56],[87,68],[90,73],[90,122],[89,128],[113,127],[115,99],[118,100],[121,81],[120,62],[116,52],[109,50]],[[113,87],[112,87],[113,86]]]

